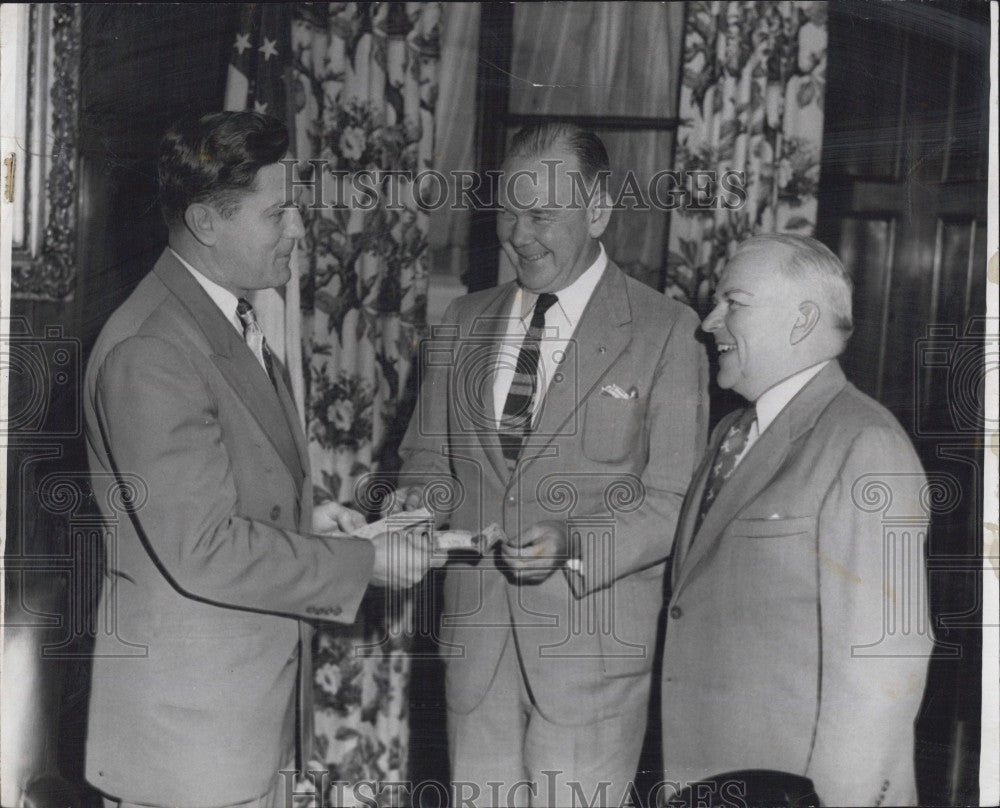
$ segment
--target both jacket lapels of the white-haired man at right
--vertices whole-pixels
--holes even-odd
[[[691,535],[705,490],[708,468],[715,459],[715,453],[726,430],[737,417],[736,413],[719,425],[715,440],[712,441],[709,453],[706,454],[705,462],[698,470],[696,482],[685,502],[682,532],[679,537],[686,537],[686,541],[682,542],[683,546],[680,548],[682,557],[677,559],[674,567],[675,593],[680,591],[693,570],[718,546],[722,533],[729,523],[771,483],[792,446],[813,428],[816,419],[845,384],[846,379],[836,361],[830,362],[810,379],[750,447],[732,477],[719,489],[719,495],[705,514],[698,532]]]

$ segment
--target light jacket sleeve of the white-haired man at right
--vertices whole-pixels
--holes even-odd
[[[933,647],[924,482],[909,441],[871,428],[820,511],[820,690],[806,774],[825,805],[915,804],[913,723]]]

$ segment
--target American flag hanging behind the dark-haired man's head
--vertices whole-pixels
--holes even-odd
[[[288,104],[292,70],[292,12],[284,3],[246,3],[240,13],[226,79],[227,110],[253,110],[284,121],[294,151],[294,113]],[[305,422],[305,379],[299,311],[298,250],[284,296],[261,289],[250,296],[272,354],[288,368],[292,396]]]

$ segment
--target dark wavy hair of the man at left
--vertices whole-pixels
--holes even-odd
[[[168,225],[204,202],[232,216],[257,172],[288,151],[288,129],[257,112],[212,112],[177,121],[160,141],[160,208]]]

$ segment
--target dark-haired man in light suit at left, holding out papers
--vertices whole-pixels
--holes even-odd
[[[283,803],[279,769],[297,734],[300,757],[311,740],[304,621],[350,623],[370,581],[412,585],[426,568],[413,537],[400,553],[336,533],[358,514],[313,508],[283,369],[243,300],[288,280],[303,234],[287,148],[255,113],[167,133],[169,246],[90,357],[100,608],[115,622],[94,649],[86,774],[108,806]]]

